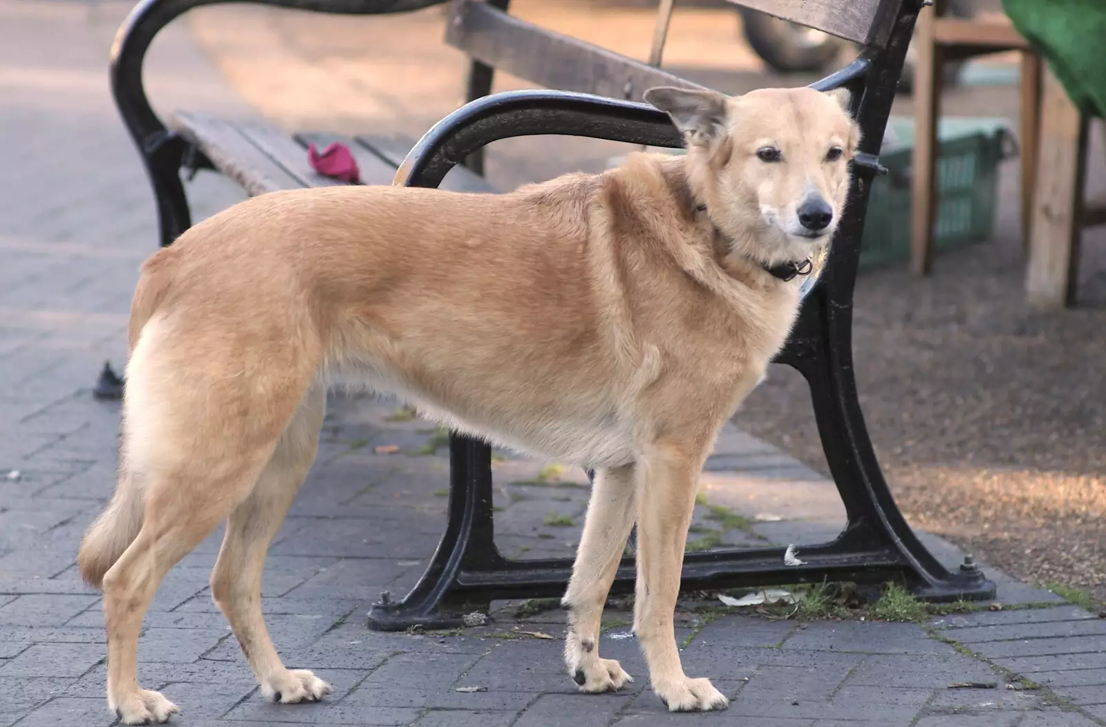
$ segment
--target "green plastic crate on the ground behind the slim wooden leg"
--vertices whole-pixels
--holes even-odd
[[[868,197],[860,268],[910,256],[910,154],[914,119],[891,117],[879,152],[887,173]],[[999,162],[1018,152],[1004,118],[942,118],[937,125],[937,213],[933,250],[963,247],[991,236],[999,191]],[[894,140],[893,140],[894,139]]]

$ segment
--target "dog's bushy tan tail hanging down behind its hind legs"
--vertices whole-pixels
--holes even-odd
[[[171,262],[166,255],[158,253],[143,265],[143,276],[135,288],[131,303],[131,320],[127,326],[127,343],[131,349],[131,361],[127,366],[127,378],[133,373],[134,351],[138,346],[143,328],[157,310],[168,288],[166,267]],[[143,514],[146,509],[146,498],[142,476],[131,470],[126,462],[126,453],[131,439],[127,434],[127,401],[124,390],[124,415],[122,426],[119,474],[115,485],[115,494],[104,512],[100,514],[81,540],[77,554],[77,566],[81,578],[93,588],[100,589],[104,575],[115,565],[123,551],[138,537],[142,529]]]

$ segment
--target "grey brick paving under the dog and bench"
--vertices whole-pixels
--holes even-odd
[[[0,127],[12,140],[0,167],[0,474],[19,472],[0,480],[0,727],[113,721],[100,600],[73,556],[113,486],[118,410],[92,400],[88,386],[103,359],[122,360],[136,268],[155,244],[149,192],[106,95],[105,49],[124,9],[0,4]],[[157,98],[250,113],[182,29],[159,41],[149,75]],[[194,193],[205,212],[240,197],[213,178]],[[497,604],[491,625],[459,634],[371,632],[368,605],[411,587],[444,524],[445,451],[431,454],[435,432],[394,411],[332,401],[319,464],[268,561],[264,611],[281,653],[335,694],[304,706],[260,697],[209,598],[217,534],[161,587],[139,651],[142,681],[181,705],[179,724],[1106,724],[1106,621],[1001,575],[1003,602],[1053,604],[925,625],[681,612],[687,671],[733,699],[711,715],[662,712],[616,609],[601,649],[638,681],[606,696],[575,694],[562,673],[559,612],[520,618],[518,604]],[[385,444],[399,453],[376,454]],[[839,526],[832,485],[783,453],[735,430],[717,452],[707,499],[752,524],[727,527],[703,506],[697,539],[810,542]],[[500,549],[571,554],[583,474],[510,457],[495,466]],[[927,541],[950,563],[961,557]],[[966,683],[977,686],[950,688]],[[466,686],[484,691],[457,691]]]

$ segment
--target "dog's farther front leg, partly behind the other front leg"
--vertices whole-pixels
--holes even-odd
[[[582,692],[609,692],[633,681],[613,658],[599,658],[599,621],[634,526],[634,465],[599,470],[584,518],[568,590],[564,661]]]

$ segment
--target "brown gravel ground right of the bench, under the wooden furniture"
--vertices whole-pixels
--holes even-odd
[[[1093,151],[1097,188],[1106,155]],[[1014,175],[1005,165],[995,242],[942,255],[928,280],[862,275],[860,401],[915,526],[1106,601],[1106,231],[1084,235],[1079,307],[1029,310]],[[738,422],[825,472],[808,402],[802,377],[776,367]]]

